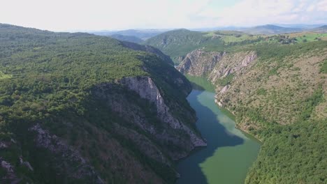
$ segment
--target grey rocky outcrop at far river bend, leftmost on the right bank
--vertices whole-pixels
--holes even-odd
[[[177,70],[188,75],[204,76],[215,68],[226,53],[196,49],[184,57]]]

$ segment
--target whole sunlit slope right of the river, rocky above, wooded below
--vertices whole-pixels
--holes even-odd
[[[203,49],[177,67],[215,84],[216,102],[263,146],[245,183],[325,183],[327,42]]]

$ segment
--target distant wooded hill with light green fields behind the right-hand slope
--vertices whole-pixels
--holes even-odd
[[[327,33],[300,32],[279,35],[252,35],[240,31],[209,31],[198,32],[187,29],[177,29],[161,33],[144,43],[161,49],[178,64],[195,49],[206,52],[235,52],[249,45],[262,43],[306,43],[317,40],[327,40]]]

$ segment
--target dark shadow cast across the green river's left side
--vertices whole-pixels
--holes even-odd
[[[201,105],[198,95],[203,91],[194,90],[189,95],[188,100],[191,107],[196,110],[198,116],[197,128],[201,131],[203,138],[207,140],[208,146],[192,153],[188,158],[181,160],[178,164],[178,171],[181,178],[176,184],[184,183],[208,183],[205,175],[201,171],[200,164],[210,158],[217,149],[224,146],[237,146],[243,144],[244,140],[236,135],[228,133],[226,128],[217,120],[217,114],[211,109]],[[212,99],[213,100],[213,99]]]

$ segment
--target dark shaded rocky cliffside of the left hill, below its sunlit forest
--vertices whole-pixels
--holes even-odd
[[[184,79],[177,78],[174,84],[184,91],[182,95],[187,95],[189,89],[182,90],[188,88]],[[169,100],[151,77],[124,77],[99,84],[92,89],[92,96],[102,107],[88,109],[89,115],[76,116],[75,120],[63,116],[51,121],[67,131],[68,137],[58,135],[44,123],[36,123],[29,126],[27,140],[14,143],[0,139],[0,150],[28,147],[36,151],[31,157],[17,155],[17,160],[22,161],[16,164],[0,158],[2,169],[6,170],[2,178],[8,183],[33,181],[17,176],[17,169],[27,169],[33,176],[41,168],[51,167],[57,173],[57,181],[63,183],[172,183],[178,176],[173,160],[184,158],[198,146],[206,146],[192,126],[196,122],[194,112]],[[99,116],[99,120],[89,120],[92,116]],[[36,162],[42,159],[50,164]],[[124,174],[129,175],[117,178]]]

